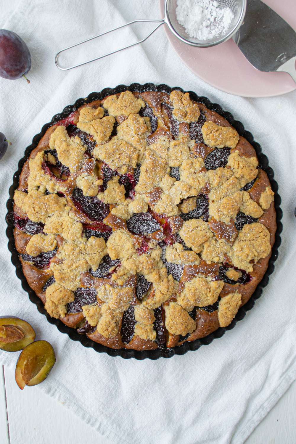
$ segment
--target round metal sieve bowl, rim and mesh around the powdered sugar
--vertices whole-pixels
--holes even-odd
[[[233,13],[233,20],[229,25],[227,31],[219,36],[214,37],[209,40],[198,40],[196,38],[190,37],[185,28],[180,25],[176,17],[177,0],[166,0],[165,4],[165,16],[166,23],[170,27],[171,31],[185,43],[189,43],[194,46],[213,46],[215,44],[221,43],[222,41],[228,40],[239,28],[242,20],[245,16],[246,0],[220,0],[219,8],[229,8]]]

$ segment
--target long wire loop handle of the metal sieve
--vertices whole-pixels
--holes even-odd
[[[134,43],[132,43],[130,45],[123,46],[122,48],[119,48],[119,49],[115,49],[112,52],[107,52],[106,54],[103,54],[103,56],[95,57],[95,59],[87,60],[86,62],[78,63],[77,65],[72,65],[72,66],[68,66],[68,67],[62,67],[62,66],[59,65],[58,58],[59,58],[59,55],[62,52],[65,52],[68,49],[74,48],[75,46],[82,45],[83,43],[89,42],[90,40],[97,39],[98,37],[104,36],[105,34],[109,34],[110,32],[116,31],[117,29],[125,28],[126,26],[129,26],[129,25],[131,25],[133,23],[139,23],[139,22],[142,22],[142,23],[143,22],[146,22],[146,23],[147,22],[148,23],[158,23],[158,25],[157,25],[156,28],[153,29],[153,31],[151,31],[142,40],[138,40],[137,42],[134,42]],[[91,37],[89,39],[83,40],[82,42],[75,43],[74,45],[71,45],[71,46],[68,46],[67,48],[62,49],[55,56],[55,64],[62,71],[67,71],[68,69],[76,68],[78,66],[85,65],[86,63],[94,62],[95,60],[103,59],[103,57],[111,56],[111,54],[115,54],[116,52],[122,51],[123,49],[131,48],[132,46],[135,46],[135,45],[138,45],[139,43],[145,42],[145,40],[147,40],[164,23],[165,23],[165,19],[160,19],[160,20],[133,20],[132,22],[126,23],[126,24],[121,25],[121,26],[118,26],[117,28],[110,29],[109,31],[102,32],[102,34],[98,34],[97,36]]]

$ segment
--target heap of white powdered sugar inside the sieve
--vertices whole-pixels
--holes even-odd
[[[176,16],[190,37],[210,40],[227,32],[233,13],[215,0],[178,0]]]

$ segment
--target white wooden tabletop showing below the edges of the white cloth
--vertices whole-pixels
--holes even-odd
[[[76,444],[80,442],[111,444],[95,429],[63,407],[62,403],[45,395],[37,387],[26,387],[20,390],[14,379],[14,371],[7,367],[5,367],[5,382],[10,428],[9,444]],[[1,416],[4,416],[4,402],[4,391],[2,391],[0,392]],[[296,381],[257,426],[245,444],[294,444],[296,443],[295,423]],[[5,417],[4,419],[0,417],[0,424],[6,427]],[[2,431],[1,427],[0,430]],[[8,442],[7,438],[5,439],[3,444]],[[1,439],[0,443],[2,444]],[[145,444],[145,438],[141,444]]]

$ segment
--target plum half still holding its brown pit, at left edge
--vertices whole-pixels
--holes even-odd
[[[18,352],[31,344],[36,337],[32,326],[18,317],[0,318],[0,349]]]

